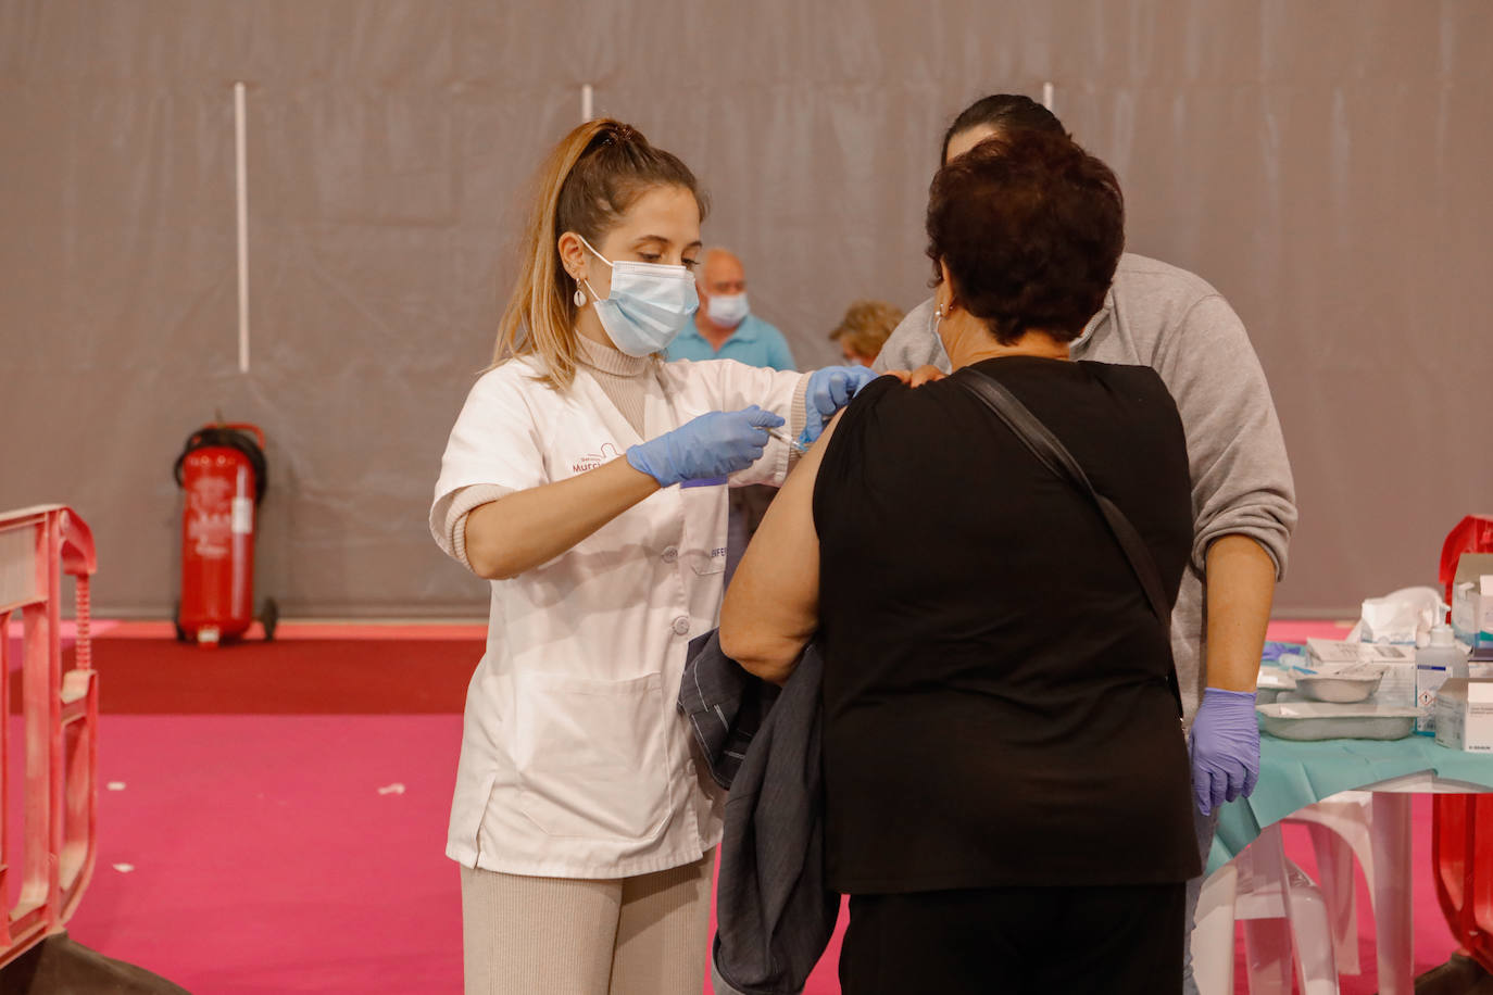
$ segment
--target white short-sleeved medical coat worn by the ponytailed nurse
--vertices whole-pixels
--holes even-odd
[[[555,391],[533,358],[484,374],[442,459],[431,528],[464,486],[563,480],[714,410],[782,418],[803,374],[735,361],[660,362],[639,437],[581,368]],[[732,485],[781,485],[770,442]],[[487,652],[467,688],[446,855],[546,877],[624,877],[697,861],[721,837],[721,795],[675,700],[685,647],[717,624],[726,488],[670,486],[575,547],[493,580]]]

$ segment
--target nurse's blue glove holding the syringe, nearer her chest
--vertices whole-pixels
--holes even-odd
[[[757,462],[767,445],[766,430],[779,425],[781,418],[755,404],[739,412],[711,412],[629,448],[627,462],[661,488],[724,477]]]

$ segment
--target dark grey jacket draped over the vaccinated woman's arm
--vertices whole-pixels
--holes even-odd
[[[720,995],[802,992],[835,932],[839,895],[824,888],[823,674],[811,643],[779,694],[726,656],[715,633],[690,643],[679,710],[711,774],[730,789],[711,958]]]

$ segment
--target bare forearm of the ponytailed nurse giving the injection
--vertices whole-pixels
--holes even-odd
[[[508,494],[472,509],[466,555],[488,580],[548,562],[658,489],[658,482],[612,459],[567,480]]]

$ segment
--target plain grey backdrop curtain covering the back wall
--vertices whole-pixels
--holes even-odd
[[[233,84],[252,367],[237,371]],[[596,112],[684,157],[708,242],[802,364],[845,304],[927,294],[944,125],[1041,94],[1118,173],[1129,245],[1239,310],[1302,521],[1278,612],[1432,579],[1493,507],[1493,4],[0,0],[0,509],[73,504],[97,610],[175,592],[187,434],[269,434],[257,589],[473,615],[426,509],[524,192]]]

